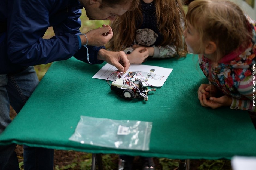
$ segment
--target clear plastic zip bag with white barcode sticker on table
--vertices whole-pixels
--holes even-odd
[[[152,122],[81,116],[69,140],[109,148],[149,150]]]

